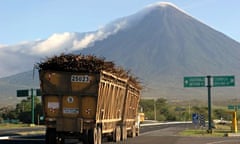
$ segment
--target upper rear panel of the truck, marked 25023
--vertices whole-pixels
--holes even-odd
[[[79,95],[97,93],[99,74],[40,71],[41,90],[44,94]]]

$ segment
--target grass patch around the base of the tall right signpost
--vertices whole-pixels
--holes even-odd
[[[227,133],[231,133],[231,125],[216,125],[216,128],[212,129],[212,133],[207,132],[207,128],[198,129],[186,129],[179,134],[182,136],[206,136],[206,137],[223,137]]]

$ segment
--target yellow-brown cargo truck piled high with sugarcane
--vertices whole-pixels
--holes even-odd
[[[141,86],[114,64],[93,56],[61,55],[39,64],[46,144],[74,138],[101,144],[139,135]]]

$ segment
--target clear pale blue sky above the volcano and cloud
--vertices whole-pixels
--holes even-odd
[[[89,32],[157,0],[1,0],[0,46],[44,40],[55,33]],[[169,0],[240,42],[239,0]]]

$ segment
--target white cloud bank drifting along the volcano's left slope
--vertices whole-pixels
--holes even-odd
[[[0,45],[0,77],[28,71],[42,58],[71,53],[94,45],[125,28],[121,19],[90,33],[56,33],[46,40],[24,41],[16,45]]]

